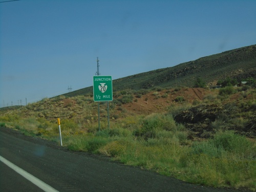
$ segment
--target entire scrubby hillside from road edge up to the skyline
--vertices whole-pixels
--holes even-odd
[[[92,87],[1,108],[0,129],[59,144],[60,118],[69,150],[190,183],[256,191],[255,62],[252,45],[116,79],[110,129],[100,102],[99,130]]]

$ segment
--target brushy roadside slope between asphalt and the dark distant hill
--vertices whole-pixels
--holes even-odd
[[[197,83],[204,87],[201,79]],[[188,88],[115,92],[110,129],[106,103],[101,102],[99,131],[91,94],[45,98],[1,110],[0,129],[6,126],[59,143],[59,117],[63,147],[69,150],[109,156],[190,183],[255,191],[255,89],[227,86],[190,102],[185,96],[172,97],[185,91]],[[162,112],[129,111],[150,97],[165,99]]]

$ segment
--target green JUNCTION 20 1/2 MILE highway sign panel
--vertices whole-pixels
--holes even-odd
[[[112,76],[93,76],[93,100],[113,100]]]

